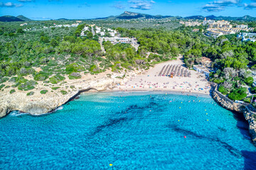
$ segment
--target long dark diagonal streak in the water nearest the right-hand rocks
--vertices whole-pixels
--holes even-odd
[[[167,127],[169,127],[169,126],[167,126]],[[197,137],[199,139],[209,140],[210,142],[218,142],[221,145],[223,145],[223,147],[225,149],[228,149],[228,151],[231,154],[233,154],[235,157],[239,158],[239,157],[242,156],[242,154],[240,153],[240,151],[238,149],[235,149],[235,147],[232,147],[231,145],[228,145],[228,143],[226,143],[226,142],[222,142],[218,138],[215,139],[215,138],[212,138],[212,137],[206,137],[206,136],[203,136],[203,135],[198,135],[197,133],[192,132],[190,130],[185,130],[185,129],[182,129],[182,128],[178,128],[178,126],[176,126],[175,128],[171,128],[171,129],[176,131],[176,132],[182,133],[183,135],[191,135],[191,136]]]

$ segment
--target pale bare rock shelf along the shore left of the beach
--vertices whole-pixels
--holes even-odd
[[[130,77],[134,74],[137,73],[130,72],[126,76]],[[128,79],[119,79],[118,77],[121,75],[117,74],[112,77],[107,77],[106,73],[98,74],[97,77],[85,75],[82,79],[68,80],[63,86],[59,84],[58,86],[61,86],[60,89],[55,91],[48,86],[38,84],[32,96],[27,96],[28,91],[17,91],[15,95],[11,95],[9,91],[6,91],[6,93],[0,94],[0,118],[11,111],[21,111],[23,113],[30,113],[31,115],[49,113],[55,110],[55,108],[67,103],[70,98],[77,96],[82,91],[88,91],[90,89],[105,91],[113,89],[117,84],[124,84],[124,81]],[[41,94],[40,91],[43,89],[47,89],[49,92],[47,94]],[[66,91],[67,94],[61,94],[61,91]]]

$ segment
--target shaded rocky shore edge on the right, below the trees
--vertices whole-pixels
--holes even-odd
[[[250,111],[250,108],[248,108],[247,106],[244,106],[240,103],[235,103],[229,98],[223,96],[223,94],[220,94],[220,92],[217,91],[216,88],[213,90],[212,96],[215,101],[223,106],[223,108],[227,108],[230,111],[237,111],[239,113],[243,113],[243,115],[245,116],[245,120],[247,120],[247,122],[249,123],[249,132],[252,137],[252,142],[256,145],[256,114]]]

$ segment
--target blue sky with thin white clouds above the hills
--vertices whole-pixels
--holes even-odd
[[[124,11],[168,16],[255,16],[256,0],[0,0],[0,16],[35,20],[116,16]]]

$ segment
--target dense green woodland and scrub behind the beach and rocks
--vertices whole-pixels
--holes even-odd
[[[5,81],[14,81],[12,88],[31,90],[37,81],[63,82],[65,74],[69,79],[80,79],[81,72],[148,69],[182,54],[188,68],[199,64],[203,56],[213,60],[215,72],[210,74],[210,81],[220,84],[219,91],[229,98],[241,100],[247,96],[248,88],[252,93],[256,91],[250,88],[253,82],[250,70],[256,69],[256,42],[242,42],[236,35],[208,38],[201,32],[193,33],[189,27],[121,28],[122,22],[118,25],[99,21],[99,25],[115,27],[122,36],[137,38],[140,44],[136,51],[129,44],[103,42],[104,53],[97,42],[98,35],[87,33],[87,37],[80,37],[85,23],[78,28],[43,28],[67,22],[71,21],[30,21],[23,27],[20,23],[0,23],[0,88],[4,89]],[[24,31],[24,28],[33,29]],[[38,68],[40,72],[36,72]],[[33,80],[23,78],[27,75],[32,75]]]

